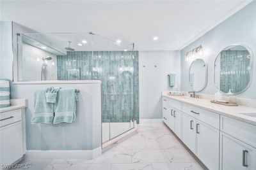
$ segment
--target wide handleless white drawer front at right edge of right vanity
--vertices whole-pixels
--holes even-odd
[[[256,148],[256,126],[221,116],[220,131]]]

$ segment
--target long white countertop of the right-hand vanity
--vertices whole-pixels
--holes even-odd
[[[256,117],[249,117],[239,113],[256,113],[256,108],[247,106],[225,106],[221,104],[211,103],[209,99],[195,99],[188,96],[170,96],[168,94],[162,94],[163,96],[175,99],[182,103],[190,104],[204,110],[219,113],[220,115],[235,118],[237,120],[246,122],[248,124],[256,125]]]

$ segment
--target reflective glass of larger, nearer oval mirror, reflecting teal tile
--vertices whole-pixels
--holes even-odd
[[[239,94],[252,80],[252,53],[242,45],[228,46],[215,60],[214,82],[224,93]]]

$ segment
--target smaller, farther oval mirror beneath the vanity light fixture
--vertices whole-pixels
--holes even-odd
[[[189,68],[189,84],[195,92],[202,91],[207,84],[207,65],[204,60],[194,60]]]

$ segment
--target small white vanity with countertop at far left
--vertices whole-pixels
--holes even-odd
[[[19,162],[26,152],[25,100],[12,99],[12,106],[0,108],[0,164]],[[0,167],[4,169],[5,167]]]

